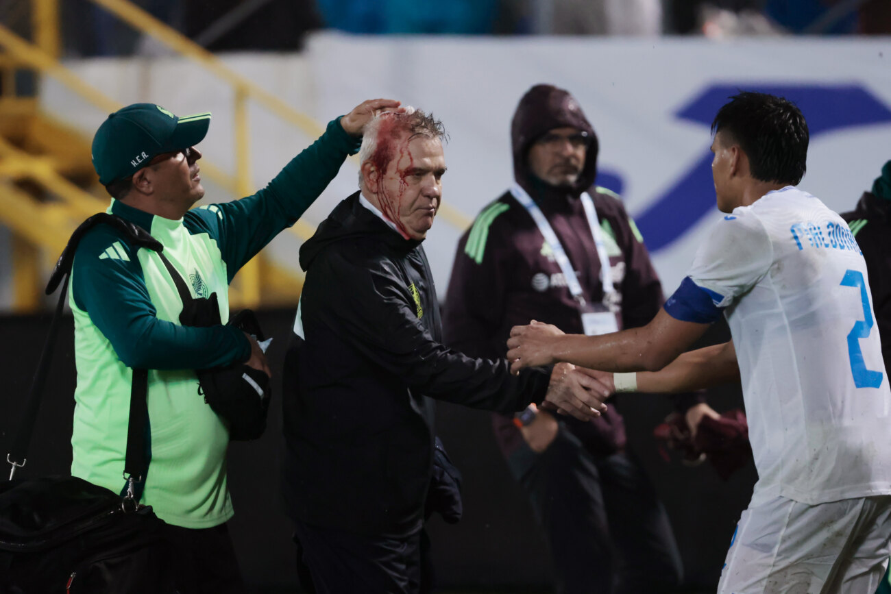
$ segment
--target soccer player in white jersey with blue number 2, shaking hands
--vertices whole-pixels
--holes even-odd
[[[808,132],[794,104],[740,93],[712,130],[727,215],[653,321],[594,337],[518,326],[508,358],[662,370],[637,374],[645,390],[733,378],[735,358],[758,482],[718,591],[873,592],[891,537],[891,391],[866,265],[841,217],[795,187]],[[732,343],[674,362],[722,313]]]

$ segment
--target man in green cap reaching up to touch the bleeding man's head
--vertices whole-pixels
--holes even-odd
[[[192,297],[217,294],[228,318],[228,285],[276,234],[294,224],[359,149],[365,123],[399,102],[372,100],[329,123],[315,143],[256,194],[190,210],[204,196],[200,151],[210,114],[184,118],[152,103],[110,114],[96,131],[93,164],[113,215],[164,246]],[[148,371],[150,464],[141,502],[163,519],[177,590],[241,592],[225,522],[229,432],[199,394],[195,370],[246,362],[269,373],[256,340],[223,325],[179,323],[176,285],[157,252],[139,249],[109,225],[78,246],[69,303],[75,322],[71,474],[121,492],[132,370]]]

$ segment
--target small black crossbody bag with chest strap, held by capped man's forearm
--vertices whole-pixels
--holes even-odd
[[[192,297],[183,276],[164,254],[159,253],[159,256],[183,302],[179,323],[184,326],[216,326],[222,323],[217,293],[211,293],[210,297]],[[266,340],[257,316],[249,309],[233,315],[226,325],[247,332],[258,341]],[[196,370],[196,373],[204,402],[225,420],[229,426],[229,439],[249,441],[263,435],[272,395],[272,385],[265,372],[237,362],[225,367]]]

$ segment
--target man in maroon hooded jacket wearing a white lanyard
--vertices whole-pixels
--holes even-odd
[[[514,113],[511,140],[516,184],[458,244],[446,344],[495,358],[504,356],[511,327],[529,320],[585,334],[650,321],[664,300],[661,284],[622,203],[593,187],[597,136],[575,98],[533,86]],[[716,416],[698,400],[676,400],[691,427]],[[678,586],[683,566],[671,525],[626,449],[615,407],[579,421],[532,406],[518,418],[495,414],[493,425],[550,545],[558,592],[590,592],[593,579],[601,592]]]

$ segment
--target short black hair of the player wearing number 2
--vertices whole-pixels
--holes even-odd
[[[736,142],[752,177],[797,185],[807,170],[807,122],[795,103],[764,93],[740,92],[718,110],[712,132]]]

